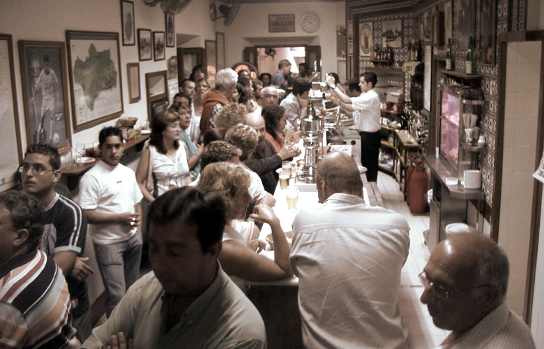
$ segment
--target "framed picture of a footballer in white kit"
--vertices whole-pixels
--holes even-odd
[[[70,148],[64,43],[19,41],[27,143]]]

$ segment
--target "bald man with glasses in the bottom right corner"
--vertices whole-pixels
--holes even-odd
[[[535,348],[529,327],[504,303],[508,259],[491,239],[453,235],[419,275],[432,322],[450,329],[441,348]]]

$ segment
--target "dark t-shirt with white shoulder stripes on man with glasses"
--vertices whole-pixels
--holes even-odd
[[[87,221],[80,205],[59,194],[45,207],[45,224],[40,249],[52,257],[55,253],[72,251],[82,257],[87,234]],[[66,276],[74,318],[89,309],[85,281]]]

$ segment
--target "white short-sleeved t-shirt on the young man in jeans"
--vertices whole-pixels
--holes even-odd
[[[133,170],[119,163],[108,165],[98,161],[81,179],[80,205],[101,214],[134,213],[143,195]],[[92,225],[91,237],[95,244],[123,242],[137,233],[137,228],[120,223]]]

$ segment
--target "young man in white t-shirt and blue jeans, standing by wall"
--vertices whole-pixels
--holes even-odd
[[[112,126],[103,128],[98,141],[102,159],[81,179],[80,205],[91,223],[109,317],[139,275],[142,253],[139,202],[143,196],[134,171],[119,163],[123,155],[121,130]]]

